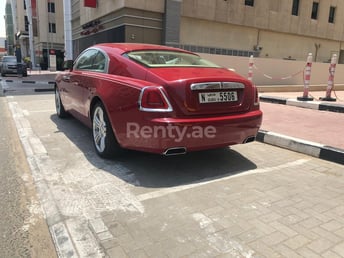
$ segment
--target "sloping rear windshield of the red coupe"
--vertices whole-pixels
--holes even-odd
[[[178,51],[132,51],[125,56],[148,67],[220,67],[198,55]]]

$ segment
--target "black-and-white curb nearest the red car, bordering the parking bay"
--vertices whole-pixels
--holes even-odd
[[[262,143],[344,165],[344,150],[342,149],[265,130],[259,130],[256,139]]]

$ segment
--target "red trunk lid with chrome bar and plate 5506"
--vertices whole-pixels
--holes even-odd
[[[251,83],[225,68],[152,70],[166,83],[173,106],[187,116],[243,113],[253,103]]]

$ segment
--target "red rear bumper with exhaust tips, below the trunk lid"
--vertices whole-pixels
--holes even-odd
[[[117,137],[128,149],[160,154],[169,150],[197,151],[252,141],[261,122],[260,110],[208,118],[153,118],[127,122],[125,133]]]

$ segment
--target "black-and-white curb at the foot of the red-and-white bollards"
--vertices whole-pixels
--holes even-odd
[[[339,103],[329,103],[329,102],[322,102],[322,101],[299,101],[296,99],[283,98],[283,97],[270,97],[270,96],[260,96],[259,100],[262,102],[268,102],[268,103],[344,113],[344,105],[339,104]]]

